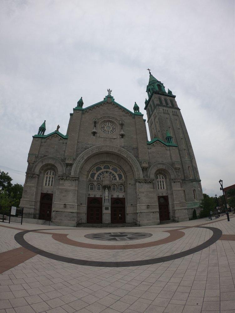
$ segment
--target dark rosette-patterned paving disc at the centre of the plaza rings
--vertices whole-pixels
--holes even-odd
[[[116,232],[116,233],[93,233],[87,234],[84,237],[94,240],[104,241],[129,241],[137,239],[145,239],[153,236],[151,233],[128,233],[128,232]]]

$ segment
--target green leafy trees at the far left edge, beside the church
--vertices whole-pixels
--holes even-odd
[[[0,211],[9,210],[11,206],[18,207],[22,198],[23,186],[12,184],[12,178],[0,171]]]

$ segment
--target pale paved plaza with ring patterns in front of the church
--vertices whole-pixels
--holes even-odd
[[[0,223],[0,313],[235,312],[235,216],[131,228]]]

